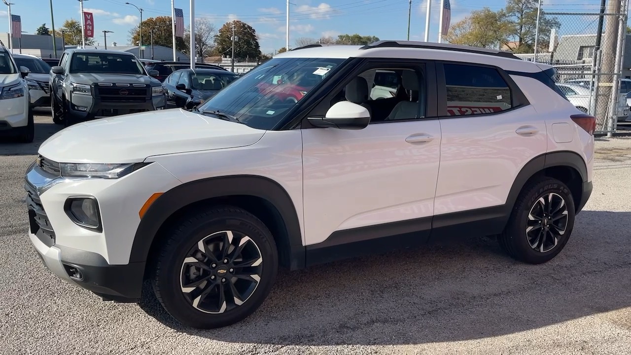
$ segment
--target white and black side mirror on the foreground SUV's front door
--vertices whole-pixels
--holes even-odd
[[[370,112],[362,105],[350,101],[340,101],[331,106],[324,117],[309,117],[309,123],[316,127],[339,129],[363,129],[370,123]]]

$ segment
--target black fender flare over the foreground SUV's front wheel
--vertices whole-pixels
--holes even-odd
[[[271,203],[285,224],[288,253],[292,269],[303,268],[305,248],[302,244],[300,222],[292,198],[287,191],[268,178],[254,175],[222,176],[184,183],[166,191],[147,209],[140,220],[129,262],[146,262],[153,240],[163,223],[181,208],[191,203],[223,196],[247,195]]]

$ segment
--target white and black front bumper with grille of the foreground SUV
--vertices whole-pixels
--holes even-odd
[[[138,301],[145,262],[129,262],[140,222],[138,211],[153,193],[177,184],[159,164],[119,179],[90,179],[62,178],[33,163],[24,186],[28,236],[57,277],[105,299]],[[71,196],[93,196],[98,201],[102,231],[73,222],[64,208]]]

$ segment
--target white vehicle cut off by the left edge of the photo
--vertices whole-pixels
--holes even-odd
[[[4,44],[0,44],[0,136],[30,143],[35,137],[35,121],[30,107],[28,68],[19,67]]]

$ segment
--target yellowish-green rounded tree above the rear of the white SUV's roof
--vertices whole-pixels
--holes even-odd
[[[504,11],[489,8],[471,11],[471,14],[454,23],[447,32],[447,42],[473,47],[495,48],[505,43],[511,27]]]

